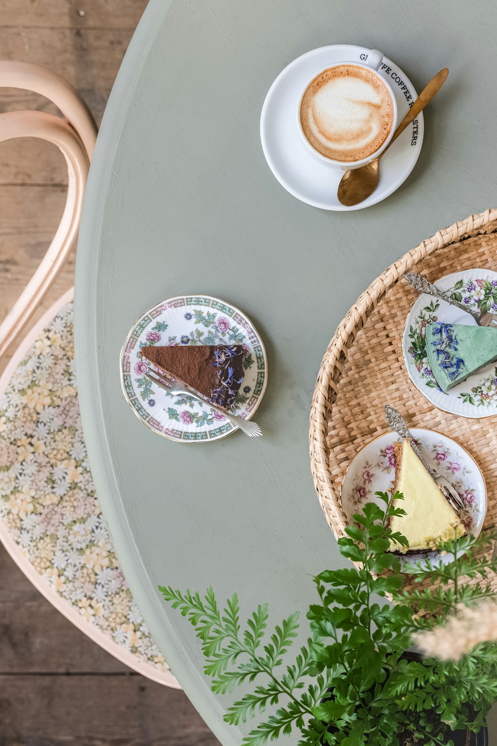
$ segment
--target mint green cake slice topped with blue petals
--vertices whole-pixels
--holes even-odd
[[[497,328],[432,322],[425,334],[428,362],[444,392],[497,360]]]

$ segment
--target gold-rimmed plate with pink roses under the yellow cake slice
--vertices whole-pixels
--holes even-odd
[[[455,486],[464,505],[461,520],[468,530],[478,535],[487,513],[487,489],[478,464],[452,438],[420,427],[410,432],[428,464]],[[384,502],[375,496],[375,492],[389,492],[393,487],[393,443],[400,440],[396,433],[385,433],[364,445],[350,464],[341,493],[342,510],[350,521],[365,503],[376,502],[384,508]],[[444,564],[454,559],[452,554],[441,557],[439,552],[434,551],[417,555],[415,561],[422,562],[426,558],[440,560]],[[413,558],[405,557],[402,561],[404,565],[409,565]]]

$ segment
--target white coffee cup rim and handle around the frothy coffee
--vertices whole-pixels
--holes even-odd
[[[393,88],[390,85],[390,82],[387,81],[386,78],[384,78],[382,75],[379,74],[379,66],[382,64],[383,60],[383,54],[378,49],[371,49],[370,51],[364,52],[364,54],[361,54],[361,61],[356,62],[355,60],[341,60],[340,62],[334,62],[331,65],[326,65],[326,67],[323,67],[319,70],[316,70],[314,72],[314,75],[311,76],[311,78],[308,79],[306,82],[306,85],[303,87],[303,90],[301,91],[299,97],[297,98],[297,128],[300,132],[301,140],[303,140],[303,143],[305,147],[308,150],[308,153],[312,155],[316,160],[318,160],[320,163],[323,163],[326,166],[333,166],[336,168],[337,166],[341,169],[344,169],[344,171],[349,171],[350,169],[358,169],[360,166],[364,166],[364,163],[370,163],[371,160],[374,160],[376,157],[379,156],[382,151],[387,147],[388,143],[393,137],[393,133],[396,130],[397,126],[397,118],[398,118],[398,111],[397,111],[397,102],[395,98],[395,93],[393,92]],[[320,153],[320,151],[316,150],[313,145],[308,141],[305,132],[303,131],[302,122],[300,119],[300,107],[302,104],[302,99],[304,97],[304,94],[306,93],[306,90],[314,81],[315,78],[317,78],[318,75],[320,75],[325,70],[332,69],[334,67],[340,67],[342,65],[353,65],[355,67],[363,67],[364,69],[369,69],[375,72],[375,74],[378,76],[379,80],[382,82],[384,87],[387,89],[387,91],[390,93],[390,98],[392,99],[392,105],[393,105],[393,120],[392,125],[390,128],[390,132],[387,135],[387,138],[382,142],[382,145],[380,145],[379,148],[376,149],[373,153],[370,153],[367,157],[361,159],[361,160],[353,160],[353,161],[343,161],[343,160],[334,160],[333,158],[330,158],[326,155],[323,155]]]

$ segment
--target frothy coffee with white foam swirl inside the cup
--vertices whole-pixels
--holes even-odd
[[[300,122],[322,155],[344,163],[362,160],[390,134],[393,101],[373,70],[338,65],[311,81],[300,105]]]

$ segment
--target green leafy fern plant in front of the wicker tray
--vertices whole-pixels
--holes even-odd
[[[221,608],[212,589],[201,598],[159,586],[194,626],[212,691],[226,695],[242,684],[254,685],[224,715],[232,725],[262,720],[244,745],[265,746],[296,729],[299,743],[307,746],[441,746],[452,743],[447,740],[452,730],[483,726],[497,699],[495,644],[481,644],[457,662],[408,659],[405,650],[415,633],[443,624],[458,604],[490,597],[490,589],[461,582],[463,576],[484,579],[496,569],[482,558],[490,539],[464,536],[441,545],[458,559],[449,565],[418,563],[420,588],[408,594],[402,590],[401,560],[387,551],[392,539],[407,545],[388,527],[390,516],[405,514],[393,507],[402,495],[376,494],[384,510],[365,505],[338,540],[341,554],[358,567],[326,570],[314,578],[318,602],[307,614],[310,635],[290,664],[297,612],[269,634],[268,604],[258,606],[242,627],[236,595]],[[421,585],[427,577],[428,588]],[[267,710],[270,714],[262,717]]]

